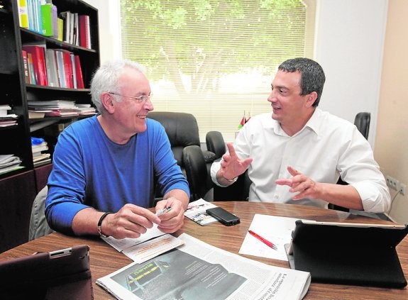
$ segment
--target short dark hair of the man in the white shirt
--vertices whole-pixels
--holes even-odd
[[[282,62],[277,70],[284,72],[300,72],[300,88],[302,89],[301,95],[310,94],[312,91],[316,91],[317,98],[314,101],[313,106],[319,105],[321,93],[323,92],[324,82],[326,77],[324,71],[317,62],[305,57],[292,58]]]

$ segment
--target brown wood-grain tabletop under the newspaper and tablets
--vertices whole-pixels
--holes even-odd
[[[287,216],[291,218],[309,218],[317,221],[335,221],[352,223],[390,223],[387,221],[363,216],[350,215],[342,211],[332,211],[326,209],[316,209],[309,206],[297,206],[290,204],[265,204],[258,202],[228,201],[216,202],[217,206],[224,207],[228,211],[235,213],[241,218],[241,223],[236,226],[226,227],[221,223],[213,223],[209,226],[199,226],[186,218],[182,230],[175,235],[187,233],[199,238],[206,243],[216,247],[237,253],[241,248],[241,243],[246,235],[255,213],[269,214],[273,216]],[[272,228],[271,228],[272,229]],[[9,251],[0,254],[0,260],[8,260],[14,257],[30,255],[38,251],[53,251],[60,248],[69,248],[73,245],[87,244],[90,247],[90,260],[92,270],[92,280],[103,277],[131,263],[131,260],[110,245],[104,243],[97,237],[76,238],[60,233],[46,235],[37,240],[32,240]],[[375,251],[375,249],[373,249]],[[408,277],[408,238],[404,238],[397,247],[399,260],[404,270],[405,277]],[[270,260],[263,257],[250,257],[270,265],[289,267],[288,262],[281,260]],[[375,262],[373,262],[375,263]],[[95,299],[114,299],[104,289],[94,283]],[[408,289],[380,289],[375,287],[355,287],[336,284],[316,284],[311,283],[309,291],[304,299],[408,299]]]

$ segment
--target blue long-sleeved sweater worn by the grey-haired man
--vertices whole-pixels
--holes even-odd
[[[97,116],[77,121],[60,134],[45,201],[51,228],[72,234],[75,214],[89,206],[114,212],[128,203],[152,206],[154,176],[163,195],[172,189],[189,195],[164,128],[149,118],[146,124],[147,130],[125,145],[109,140]]]

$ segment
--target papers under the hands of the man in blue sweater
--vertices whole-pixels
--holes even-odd
[[[179,238],[162,233],[156,224],[153,225],[153,228],[149,228],[146,233],[140,235],[139,238],[118,240],[109,236],[108,238],[102,237],[102,240],[138,263],[150,260],[150,258],[183,244]]]

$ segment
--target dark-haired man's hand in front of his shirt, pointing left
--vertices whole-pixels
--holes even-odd
[[[314,182],[305,174],[295,170],[293,167],[287,167],[287,171],[290,172],[292,178],[277,179],[276,184],[287,185],[290,187],[291,193],[299,192],[292,197],[293,200],[299,200],[303,198],[316,199],[319,198],[319,183]]]

